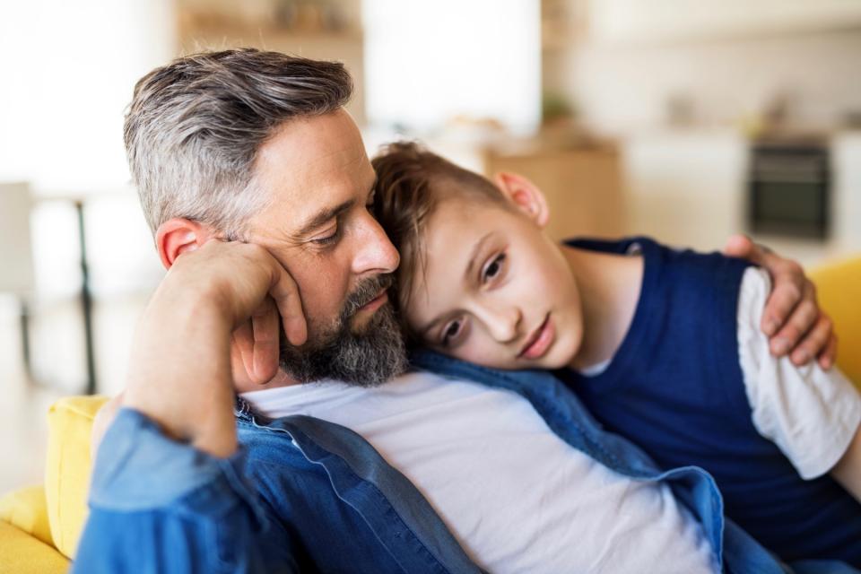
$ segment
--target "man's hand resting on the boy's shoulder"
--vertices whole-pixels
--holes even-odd
[[[761,325],[762,332],[769,336],[771,354],[782,357],[791,353],[796,366],[815,357],[822,369],[831,369],[837,356],[837,336],[831,317],[816,302],[816,287],[804,275],[801,265],[779,257],[744,235],[729,238],[724,254],[747,259],[771,275],[774,288]]]

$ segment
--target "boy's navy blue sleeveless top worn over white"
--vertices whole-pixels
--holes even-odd
[[[666,468],[715,477],[726,516],[784,561],[861,567],[861,504],[830,476],[804,481],[753,426],[738,357],[736,308],[748,264],[647,238],[571,240],[644,257],[639,302],[622,345],[594,377],[557,373],[610,430]]]

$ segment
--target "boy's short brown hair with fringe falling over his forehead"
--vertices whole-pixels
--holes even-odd
[[[458,167],[419,143],[390,143],[371,165],[377,172],[375,215],[401,254],[393,297],[393,303],[401,307],[408,302],[415,273],[425,271],[422,230],[439,202],[462,197],[507,206],[508,201],[487,178]]]

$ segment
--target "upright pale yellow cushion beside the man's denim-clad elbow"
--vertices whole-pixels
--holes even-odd
[[[74,558],[87,517],[92,420],[107,400],[104,396],[70,396],[48,410],[48,520],[57,550],[69,558]]]

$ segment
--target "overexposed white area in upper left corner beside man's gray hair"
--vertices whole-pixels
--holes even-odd
[[[30,0],[0,8],[0,179],[40,191],[128,179],[123,110],[173,54],[170,0]]]

